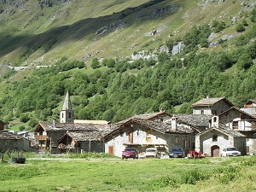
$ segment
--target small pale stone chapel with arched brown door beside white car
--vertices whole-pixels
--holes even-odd
[[[211,157],[218,157],[225,147],[236,147],[246,154],[246,137],[229,127],[212,126],[195,136],[195,150]]]

